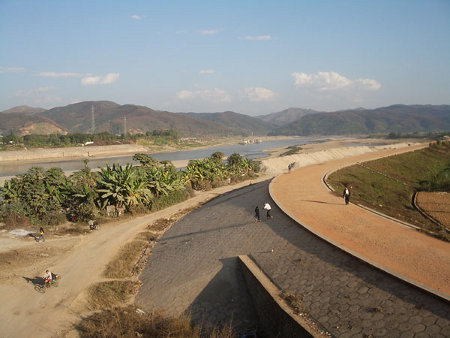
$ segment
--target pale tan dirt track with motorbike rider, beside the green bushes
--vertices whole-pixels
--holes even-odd
[[[183,209],[248,184],[250,182],[243,182],[199,193],[186,202],[151,215],[102,226],[100,231],[89,235],[72,237],[66,241],[47,240],[45,243],[35,243],[40,246],[37,247],[39,250],[44,251],[43,258],[39,257],[40,259],[26,266],[10,266],[2,269],[0,274],[0,336],[61,335],[88,310],[88,288],[103,280],[101,275],[105,265],[114,258],[124,243],[132,240],[159,218],[168,218]],[[24,246],[31,247],[26,242]],[[42,276],[46,268],[60,274],[62,278],[58,288],[51,288],[45,294],[40,294],[25,277],[33,279]]]

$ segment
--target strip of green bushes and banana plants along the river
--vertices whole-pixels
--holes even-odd
[[[259,162],[238,153],[226,161],[220,152],[191,160],[183,171],[146,154],[135,154],[133,159],[141,165],[113,164],[99,172],[93,172],[86,160],[85,168],[69,177],[60,168],[31,168],[0,187],[0,221],[20,219],[48,226],[148,213],[186,200],[194,190],[240,182],[259,172]]]

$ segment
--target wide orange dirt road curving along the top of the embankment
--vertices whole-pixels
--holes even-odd
[[[450,243],[353,204],[346,206],[321,182],[331,170],[421,147],[383,150],[300,168],[274,180],[271,195],[295,220],[335,245],[449,297]]]

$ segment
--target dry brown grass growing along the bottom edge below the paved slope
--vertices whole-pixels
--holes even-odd
[[[144,313],[135,306],[113,308],[85,318],[77,325],[81,337],[186,337],[231,338],[231,325],[203,330],[188,316],[168,318],[160,313]]]

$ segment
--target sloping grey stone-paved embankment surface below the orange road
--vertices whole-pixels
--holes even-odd
[[[268,182],[222,195],[172,226],[155,246],[137,303],[196,323],[257,325],[236,256],[250,255],[282,290],[303,299],[310,316],[339,337],[449,337],[449,304],[418,291],[324,242],[270,201]],[[274,249],[274,252],[271,252]]]

